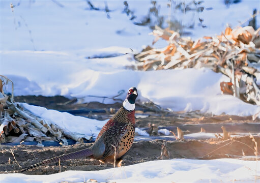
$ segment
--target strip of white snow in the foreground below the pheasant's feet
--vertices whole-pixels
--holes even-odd
[[[174,159],[99,171],[66,171],[52,175],[1,174],[1,182],[254,182],[256,161]]]

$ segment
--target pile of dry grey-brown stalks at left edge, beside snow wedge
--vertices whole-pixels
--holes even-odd
[[[68,145],[67,139],[83,143],[79,135],[22,109],[14,101],[13,95],[4,93],[4,86],[8,82],[12,81],[0,75],[0,143],[37,141],[42,146],[42,141],[57,141],[61,145]]]

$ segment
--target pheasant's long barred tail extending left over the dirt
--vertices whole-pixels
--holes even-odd
[[[61,155],[61,156],[54,157],[54,158],[51,158],[51,159],[48,159],[48,160],[44,160],[40,163],[37,163],[37,164],[34,164],[30,167],[22,169],[22,170],[20,170],[20,172],[24,172],[24,171],[27,171],[29,169],[33,169],[33,168],[36,168],[36,167],[39,167],[39,166],[49,165],[51,163],[57,163],[59,161],[62,162],[62,161],[71,160],[71,159],[89,157],[91,155],[93,155],[92,151],[89,148],[86,148],[86,149],[78,150],[78,151],[73,152],[73,153],[69,153],[69,154],[66,154],[66,155]]]

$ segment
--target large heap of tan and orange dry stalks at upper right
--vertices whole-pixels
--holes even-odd
[[[230,82],[220,83],[224,94],[260,105],[260,86],[256,84],[256,79],[260,83],[259,31],[260,28],[255,31],[251,26],[227,27],[221,35],[193,41],[157,26],[152,33],[153,44],[161,38],[168,46],[161,49],[147,46],[135,55],[138,70],[209,68],[230,78]]]

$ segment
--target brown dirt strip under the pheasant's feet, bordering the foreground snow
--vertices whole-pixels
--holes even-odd
[[[259,142],[259,137],[254,137]],[[210,140],[176,140],[176,141],[139,141],[134,142],[132,148],[124,157],[123,166],[157,160],[161,155],[161,146],[166,143],[166,149],[169,151],[169,158],[185,159],[217,159],[217,158],[243,158],[254,156],[254,143],[249,136],[236,137],[226,141]],[[89,147],[91,143],[75,144],[63,147],[38,147],[32,145],[0,146],[1,160],[0,173],[11,173],[19,170],[18,163],[22,167],[27,167],[53,156],[71,153]],[[15,156],[17,163],[14,160]],[[260,148],[258,147],[258,152]],[[10,160],[9,160],[10,159]],[[164,157],[164,159],[167,159]],[[10,162],[10,163],[9,163]],[[61,162],[61,165],[54,164],[49,166],[37,167],[24,172],[25,174],[53,174],[65,170],[102,170],[112,168],[112,165],[101,165],[98,160],[77,159]]]

